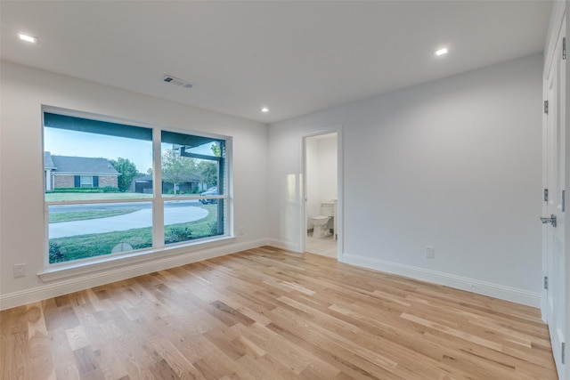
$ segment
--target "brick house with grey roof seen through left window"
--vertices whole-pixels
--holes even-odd
[[[118,187],[120,173],[107,158],[53,156],[44,152],[45,190]]]

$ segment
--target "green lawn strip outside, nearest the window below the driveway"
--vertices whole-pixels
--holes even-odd
[[[217,234],[214,228],[216,226],[217,205],[201,205],[199,207],[208,210],[208,216],[194,222],[166,226],[165,241],[167,244],[206,238]],[[151,227],[50,239],[50,263],[110,255],[113,247],[119,243],[129,244],[133,249],[150,248],[152,247]]]

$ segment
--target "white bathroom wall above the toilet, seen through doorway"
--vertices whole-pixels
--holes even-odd
[[[306,215],[307,230],[311,218],[321,214],[321,202],[337,198],[337,133],[306,139]]]

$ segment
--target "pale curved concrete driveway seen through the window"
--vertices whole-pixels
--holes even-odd
[[[208,210],[196,206],[165,207],[165,225],[194,222],[208,216]],[[77,222],[50,223],[50,239],[85,235],[88,233],[104,233],[117,230],[132,230],[151,227],[152,210],[145,208],[130,214],[110,216],[108,218],[88,219]]]

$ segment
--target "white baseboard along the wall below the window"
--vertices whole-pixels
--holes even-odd
[[[267,245],[267,239],[258,239],[244,243],[234,243],[228,246],[210,247],[178,255],[167,255],[140,263],[121,265],[104,271],[93,271],[61,280],[53,280],[45,285],[33,287],[18,292],[0,295],[0,310],[10,309],[26,303],[35,303],[58,295],[85,290],[89,287],[98,287],[121,279],[130,279],[153,271],[163,271],[188,263],[196,263],[214,257],[235,254],[248,249]]]

